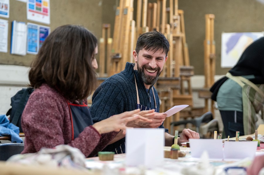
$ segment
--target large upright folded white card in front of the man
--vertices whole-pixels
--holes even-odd
[[[126,129],[126,165],[145,165],[148,168],[161,165],[164,160],[164,129]]]

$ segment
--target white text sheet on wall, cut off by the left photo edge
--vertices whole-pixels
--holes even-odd
[[[0,19],[0,52],[7,53],[8,20]]]

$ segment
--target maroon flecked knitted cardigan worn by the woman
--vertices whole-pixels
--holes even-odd
[[[34,153],[42,147],[53,148],[68,144],[81,150],[86,157],[96,155],[95,151],[102,150],[116,134],[102,134],[104,137],[101,139],[98,131],[89,126],[72,140],[67,103],[56,95],[49,92],[31,94],[21,119],[26,136],[22,153]]]

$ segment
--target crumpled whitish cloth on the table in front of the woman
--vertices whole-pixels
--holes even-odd
[[[17,154],[11,156],[7,163],[17,162],[30,165],[84,169],[85,156],[78,149],[69,145],[57,145],[54,148],[41,148],[37,153]]]

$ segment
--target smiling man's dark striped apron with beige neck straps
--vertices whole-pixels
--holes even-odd
[[[134,77],[135,77],[135,75],[134,75]],[[136,91],[137,91],[137,109],[140,109],[141,111],[142,110],[152,110],[153,108],[150,108],[150,107],[147,107],[147,106],[143,106],[139,102],[138,85],[137,85],[137,82],[136,82],[136,77],[135,77],[135,85],[136,85]],[[154,112],[157,112],[157,103],[156,103],[153,87],[152,87],[152,92],[153,92],[153,97],[154,97],[154,101],[155,101],[155,111]],[[114,152],[116,152],[116,154],[122,154],[122,153],[126,152],[125,150],[126,150],[126,142],[122,143],[119,147],[117,147],[114,150]]]

